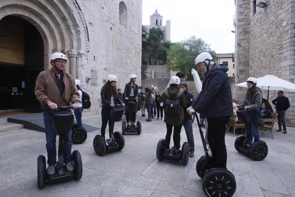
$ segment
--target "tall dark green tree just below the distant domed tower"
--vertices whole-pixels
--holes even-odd
[[[157,64],[157,51],[162,46],[164,38],[164,31],[160,27],[150,28],[148,37],[145,40],[145,42],[147,43],[147,53],[150,65]]]

